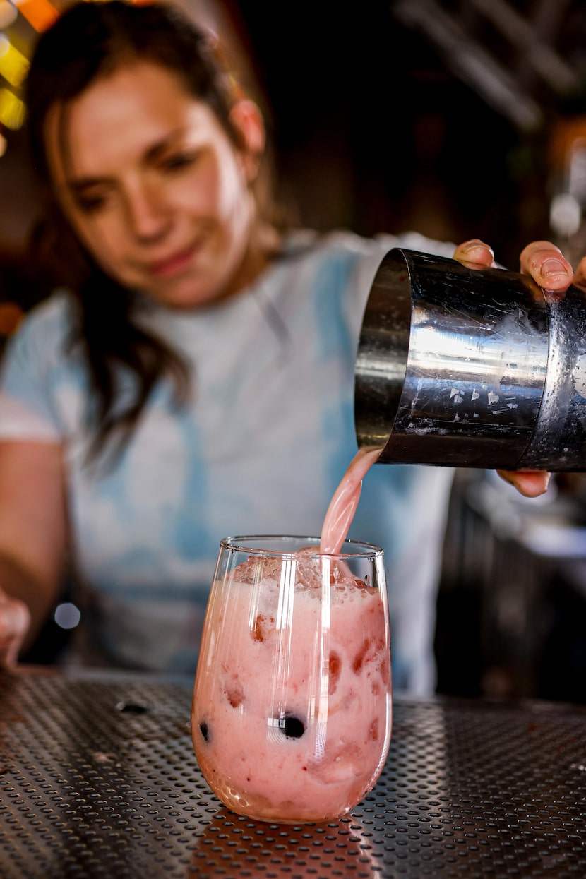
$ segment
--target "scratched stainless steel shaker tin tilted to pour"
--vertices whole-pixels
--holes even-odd
[[[380,461],[586,470],[586,300],[395,248],[355,366],[358,446]]]

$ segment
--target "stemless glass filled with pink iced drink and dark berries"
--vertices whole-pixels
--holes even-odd
[[[380,547],[317,537],[221,541],[192,701],[195,754],[228,808],[263,821],[342,817],[391,736]]]

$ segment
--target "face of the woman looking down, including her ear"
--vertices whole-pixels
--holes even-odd
[[[232,120],[242,149],[179,76],[151,62],[53,108],[47,156],[61,207],[122,285],[191,309],[252,280],[250,181],[263,127],[250,102]]]

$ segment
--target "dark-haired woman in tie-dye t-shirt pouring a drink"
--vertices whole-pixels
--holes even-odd
[[[27,105],[67,290],[4,362],[0,655],[33,638],[68,561],[76,661],[192,673],[221,537],[319,533],[356,450],[354,352],[380,259],[453,248],[282,229],[257,106],[166,4],[69,8],[40,38]],[[493,260],[478,241],[455,256]],[[521,265],[553,290],[572,280],[549,243]],[[373,471],[351,534],[386,550],[394,685],[429,693],[450,472]]]

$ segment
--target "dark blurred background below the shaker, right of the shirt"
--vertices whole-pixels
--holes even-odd
[[[457,473],[436,653],[440,693],[586,702],[586,476],[527,499]]]

